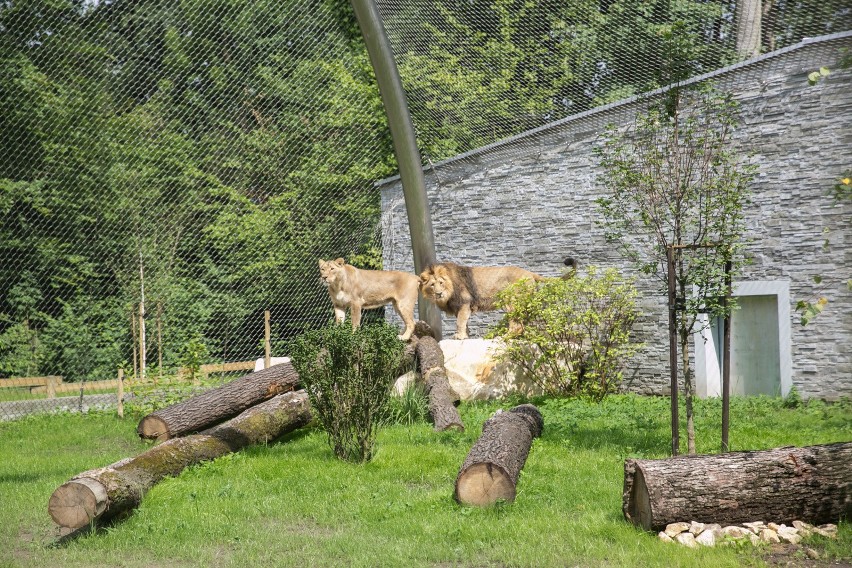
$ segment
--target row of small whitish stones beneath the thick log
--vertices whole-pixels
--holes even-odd
[[[827,538],[837,537],[837,525],[826,524],[818,527],[802,521],[793,521],[793,526],[755,521],[742,525],[723,527],[718,524],[671,523],[659,533],[665,542],[677,542],[683,546],[716,546],[717,544],[750,541],[754,545],[761,543],[799,544],[803,538],[818,534]]]

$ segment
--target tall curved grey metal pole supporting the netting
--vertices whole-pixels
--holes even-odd
[[[382,103],[388,116],[393,151],[399,164],[405,210],[408,213],[408,230],[411,233],[411,248],[414,252],[414,270],[418,273],[435,262],[435,237],[432,232],[432,217],[426,197],[426,180],[423,176],[420,151],[414,135],[414,125],[408,112],[408,102],[402,80],[396,68],[390,43],[382,19],[373,0],[351,0],[355,17],[361,27],[367,53],[376,73]],[[423,297],[418,302],[420,319],[428,323],[437,336],[441,337],[441,312]]]

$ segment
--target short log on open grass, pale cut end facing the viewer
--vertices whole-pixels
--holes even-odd
[[[533,438],[543,427],[541,413],[531,404],[498,411],[486,420],[456,478],[456,500],[463,505],[514,501]]]

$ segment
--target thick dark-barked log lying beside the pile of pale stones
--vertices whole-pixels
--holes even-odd
[[[852,442],[624,463],[624,516],[648,530],[697,521],[814,524],[852,514]]]

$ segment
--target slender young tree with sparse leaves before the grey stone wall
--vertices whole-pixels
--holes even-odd
[[[735,277],[743,264],[743,210],[756,168],[731,147],[737,123],[729,95],[674,89],[627,128],[609,127],[597,148],[609,192],[598,201],[607,238],[644,273],[662,276],[664,285],[667,252],[676,252],[674,307],[689,453],[695,452],[689,336],[699,313],[719,316],[730,309],[724,267],[730,261]]]

